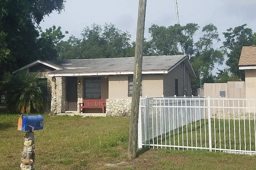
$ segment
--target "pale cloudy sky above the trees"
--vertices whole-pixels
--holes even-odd
[[[177,23],[175,0],[148,0],[146,6],[145,38],[150,38],[152,24],[169,26]],[[200,29],[213,23],[224,41],[226,29],[248,24],[256,31],[255,0],[177,0],[180,25],[198,23]],[[52,25],[61,26],[62,32],[80,37],[82,30],[93,23],[113,23],[118,29],[128,31],[136,39],[138,0],[66,0],[65,10],[53,12],[40,23],[43,30]],[[198,31],[195,37],[200,37]],[[222,43],[216,44],[221,46]]]

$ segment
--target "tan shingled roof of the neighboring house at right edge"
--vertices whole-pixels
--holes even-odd
[[[256,46],[242,47],[239,70],[256,69]]]

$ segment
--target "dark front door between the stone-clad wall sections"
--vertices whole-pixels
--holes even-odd
[[[66,78],[66,111],[77,111],[77,77]]]

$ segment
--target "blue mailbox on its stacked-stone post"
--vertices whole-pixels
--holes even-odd
[[[35,163],[35,143],[34,130],[41,130],[44,127],[44,117],[24,116],[21,115],[18,119],[18,130],[26,131],[24,136],[24,145],[21,154],[21,170],[33,170]]]

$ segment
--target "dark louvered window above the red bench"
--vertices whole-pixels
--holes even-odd
[[[100,99],[101,98],[101,78],[92,77],[84,79],[84,98]]]

